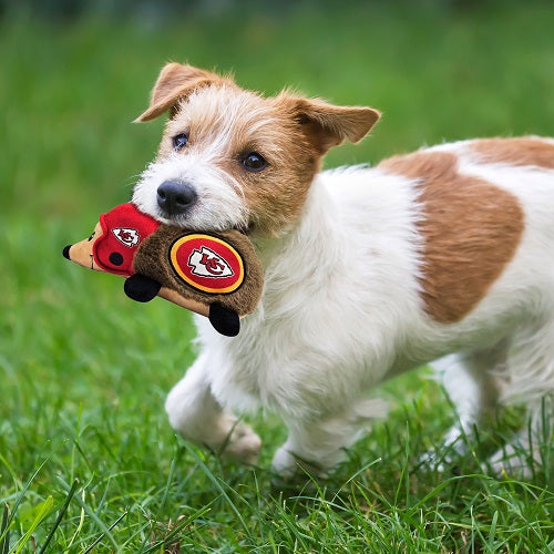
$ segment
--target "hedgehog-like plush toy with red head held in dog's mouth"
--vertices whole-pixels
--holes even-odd
[[[125,294],[147,302],[161,296],[209,318],[234,337],[239,316],[261,296],[263,270],[249,239],[238,230],[196,233],[161,224],[133,204],[100,216],[92,235],[66,246],[76,264],[126,277]]]

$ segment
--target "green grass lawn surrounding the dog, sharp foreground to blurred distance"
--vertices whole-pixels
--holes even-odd
[[[127,199],[162,122],[129,124],[167,59],[235,70],[384,112],[328,165],[476,135],[551,134],[554,9],[546,2],[286,4],[178,21],[0,21],[0,553],[552,552],[551,437],[530,480],[476,456],[424,471],[453,416],[427,371],[391,381],[390,418],[326,483],[271,485],[285,429],[252,416],[258,466],[177,439],[167,390],[194,358],[168,302],[130,302],[116,277],[61,248]],[[517,413],[511,417],[516,418]],[[496,439],[483,439],[494,443]]]

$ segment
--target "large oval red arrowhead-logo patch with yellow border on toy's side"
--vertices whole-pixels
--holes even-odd
[[[175,273],[204,293],[233,293],[244,281],[240,255],[225,240],[209,235],[186,235],[170,249]]]

